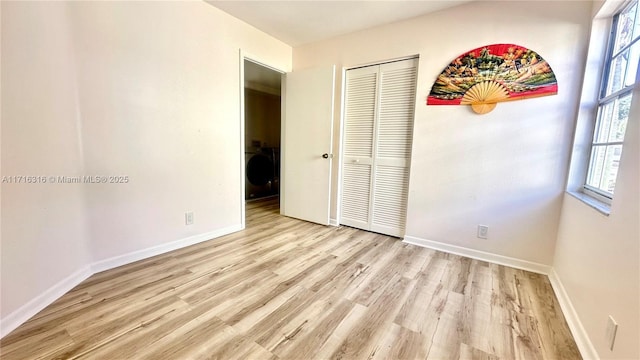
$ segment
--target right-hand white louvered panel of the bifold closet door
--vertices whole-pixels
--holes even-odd
[[[370,230],[392,236],[406,222],[417,62],[380,65]]]

